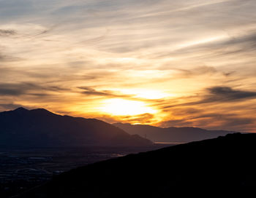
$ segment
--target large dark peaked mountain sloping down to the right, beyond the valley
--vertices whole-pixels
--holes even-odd
[[[43,108],[0,113],[0,146],[147,146],[151,141],[98,119],[61,116]]]

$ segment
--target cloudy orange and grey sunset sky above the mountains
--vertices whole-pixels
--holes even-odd
[[[0,111],[256,132],[255,0],[0,0]]]

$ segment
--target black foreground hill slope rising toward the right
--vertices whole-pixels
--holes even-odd
[[[227,135],[80,167],[18,197],[231,194],[256,187],[255,151],[255,134]]]

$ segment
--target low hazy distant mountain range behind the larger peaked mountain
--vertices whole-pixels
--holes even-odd
[[[196,127],[161,128],[142,124],[124,124],[120,122],[113,125],[128,132],[130,135],[137,134],[153,142],[188,143],[234,133],[233,131],[225,130],[203,130]]]

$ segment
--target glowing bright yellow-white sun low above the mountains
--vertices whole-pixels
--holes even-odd
[[[105,100],[100,111],[114,116],[132,116],[138,114],[155,114],[157,110],[149,107],[146,103],[136,100],[109,99]]]

